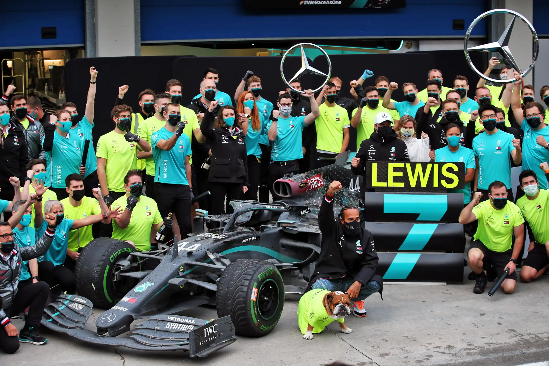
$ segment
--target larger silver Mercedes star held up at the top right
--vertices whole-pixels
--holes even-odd
[[[501,37],[496,42],[481,44],[480,46],[468,47],[469,36],[470,36],[474,26],[477,25],[477,23],[481,19],[485,18],[486,16],[493,15],[493,14],[498,14],[498,13],[500,13],[500,14],[512,14],[513,15],[513,18],[511,19],[511,21],[509,22],[509,24],[505,28],[505,31],[503,31],[503,34],[501,35]],[[528,66],[528,69],[526,69],[526,71],[524,71],[524,72],[520,71],[520,67],[518,66],[517,61],[514,59],[513,54],[511,53],[511,49],[509,49],[509,46],[508,46],[509,40],[511,39],[511,32],[513,31],[513,25],[514,25],[515,20],[517,19],[517,16],[530,29],[530,32],[532,33],[532,41],[534,42],[534,53],[533,53],[533,57],[532,57],[532,62],[530,63],[530,66]],[[530,42],[529,39],[524,40],[524,41],[525,42]],[[522,76],[526,76],[526,74],[528,74],[534,68],[534,65],[536,63],[537,53],[538,53],[538,50],[539,50],[539,41],[537,39],[537,33],[536,33],[534,27],[530,24],[528,19],[524,18],[524,16],[520,15],[517,12],[513,12],[513,10],[494,9],[494,10],[489,10],[488,12],[485,12],[483,14],[480,14],[479,16],[477,16],[477,19],[473,20],[471,25],[469,25],[469,28],[467,29],[467,33],[465,35],[464,50],[465,50],[465,57],[467,59],[467,63],[469,64],[469,67],[475,72],[475,74],[477,74],[478,76],[480,76],[484,80],[488,80],[488,81],[491,81],[493,83],[507,84],[507,83],[514,82],[515,81],[514,78],[511,78],[511,79],[508,79],[508,80],[500,80],[500,79],[494,79],[494,78],[485,76],[482,72],[480,72],[477,69],[477,67],[475,67],[475,65],[473,65],[473,62],[471,61],[471,58],[469,56],[469,51],[498,52],[501,55],[503,61],[507,65],[511,65],[515,71],[520,72],[520,74]]]

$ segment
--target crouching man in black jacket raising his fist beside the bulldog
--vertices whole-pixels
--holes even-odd
[[[320,205],[321,250],[307,290],[345,292],[351,298],[354,315],[362,318],[366,316],[363,300],[375,292],[382,295],[383,279],[376,274],[378,255],[374,238],[361,226],[358,209],[345,206],[334,218],[334,195],[341,188],[338,181],[330,183]]]

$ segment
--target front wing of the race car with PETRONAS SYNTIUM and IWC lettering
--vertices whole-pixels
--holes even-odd
[[[124,346],[142,351],[182,350],[189,351],[190,357],[208,356],[237,340],[230,316],[203,320],[158,315],[137,324],[129,338],[99,335],[85,329],[92,307],[92,302],[85,297],[62,294],[44,309],[41,324],[92,344]]]

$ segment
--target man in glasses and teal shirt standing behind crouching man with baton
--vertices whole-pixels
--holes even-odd
[[[520,140],[497,128],[496,107],[488,104],[479,108],[480,123],[484,133],[473,139],[473,151],[477,158],[477,171],[473,179],[473,191],[481,192],[480,201],[488,199],[490,183],[501,181],[507,188],[507,198],[513,201],[511,190],[511,157],[515,164],[522,160]]]

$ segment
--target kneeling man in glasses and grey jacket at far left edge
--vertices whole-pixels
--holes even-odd
[[[13,215],[14,220],[20,222],[28,207],[35,202],[36,195],[29,195],[25,204]],[[23,262],[46,254],[52,244],[57,217],[46,213],[44,219],[48,227],[42,237],[35,245],[25,247],[15,243],[9,224],[0,222],[0,350],[5,353],[15,353],[19,342],[42,345],[48,341],[36,333],[48,300],[48,284],[39,281],[18,286]],[[26,307],[29,307],[29,314],[25,326],[18,333],[9,317],[18,315]]]

